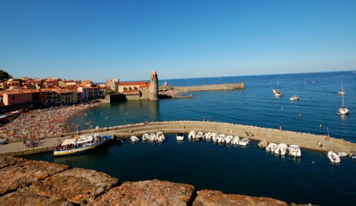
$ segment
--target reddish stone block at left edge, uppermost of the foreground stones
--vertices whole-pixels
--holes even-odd
[[[0,195],[35,183],[67,168],[69,168],[68,165],[31,160],[2,168],[0,169]]]

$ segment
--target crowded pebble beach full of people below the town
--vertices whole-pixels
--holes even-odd
[[[84,113],[85,109],[99,104],[101,102],[24,112],[0,127],[0,139],[43,139],[79,130],[79,126],[71,128],[69,117]]]

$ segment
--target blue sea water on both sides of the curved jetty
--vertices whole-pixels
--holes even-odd
[[[190,92],[186,99],[131,101],[89,108],[70,119],[72,128],[101,128],[140,122],[197,120],[279,128],[356,143],[355,71],[291,73],[159,80],[172,86],[245,82],[234,91]],[[338,91],[344,88],[349,115],[337,115],[342,106]],[[283,95],[276,98],[273,89]],[[300,100],[291,102],[292,95]],[[159,179],[194,185],[197,190],[265,196],[287,203],[355,205],[356,161],[343,157],[334,164],[326,152],[302,149],[302,158],[279,157],[247,147],[221,146],[208,141],[178,142],[166,134],[163,144],[129,139],[95,152],[54,158],[51,152],[27,155],[72,167],[106,172],[120,182]],[[356,151],[355,151],[356,152]]]

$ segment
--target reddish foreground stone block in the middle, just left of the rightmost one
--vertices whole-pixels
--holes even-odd
[[[90,205],[187,205],[194,186],[167,181],[125,182]]]

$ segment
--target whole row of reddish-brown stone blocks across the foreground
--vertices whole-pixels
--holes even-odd
[[[168,181],[119,185],[103,172],[15,157],[0,157],[0,176],[0,205],[287,205]]]

